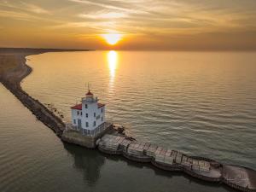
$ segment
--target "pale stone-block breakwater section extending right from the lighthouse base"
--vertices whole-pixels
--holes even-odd
[[[106,134],[97,143],[98,149],[106,154],[121,154],[129,160],[151,163],[169,172],[185,172],[207,182],[226,183],[241,191],[256,191],[256,172],[245,167],[223,165],[125,136]]]

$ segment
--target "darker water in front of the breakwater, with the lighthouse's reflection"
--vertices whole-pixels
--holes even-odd
[[[0,84],[1,192],[233,191],[61,143]]]

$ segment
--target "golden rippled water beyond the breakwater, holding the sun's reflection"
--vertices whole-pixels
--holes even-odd
[[[137,139],[256,169],[256,53],[91,51],[28,57],[22,87],[70,107],[91,90]]]

